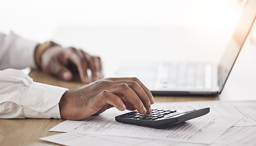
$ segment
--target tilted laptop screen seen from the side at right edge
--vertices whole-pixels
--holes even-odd
[[[224,88],[224,85],[229,77],[229,74],[235,64],[236,58],[243,47],[244,41],[249,34],[252,24],[256,18],[256,1],[248,0],[244,5],[244,10],[241,15],[241,19],[238,23],[238,26],[235,29],[227,49],[224,52],[224,55],[221,59],[221,62],[218,66],[218,85],[219,88]],[[221,92],[220,91],[220,92]]]

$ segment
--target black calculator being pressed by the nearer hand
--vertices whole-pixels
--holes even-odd
[[[129,123],[151,128],[165,128],[171,125],[185,122],[186,120],[204,116],[210,112],[210,108],[193,109],[191,111],[178,111],[175,109],[152,109],[150,114],[140,114],[131,111],[116,116],[117,122]]]

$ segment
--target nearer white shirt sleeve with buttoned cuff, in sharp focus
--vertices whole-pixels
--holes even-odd
[[[61,118],[59,101],[67,90],[33,82],[15,69],[0,71],[0,118]]]

